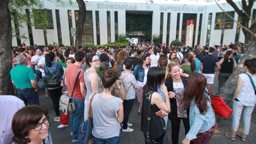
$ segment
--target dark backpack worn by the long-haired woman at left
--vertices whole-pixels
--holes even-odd
[[[47,71],[45,71],[45,86],[48,87],[59,87],[61,84],[61,81],[59,80],[59,76],[57,71],[58,65],[55,67],[55,71],[53,73],[49,73],[49,69],[46,66]]]

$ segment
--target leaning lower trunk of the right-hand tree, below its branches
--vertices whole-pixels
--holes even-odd
[[[255,33],[256,28],[253,28],[251,30]],[[232,95],[234,94],[237,87],[238,75],[245,72],[243,70],[244,61],[246,59],[252,59],[256,57],[256,38],[253,37],[249,32],[245,32],[244,35],[244,55],[240,59],[235,71],[228,78],[223,87],[220,87],[220,90],[217,92],[218,95],[223,96],[223,99],[226,103],[229,103],[232,99]]]

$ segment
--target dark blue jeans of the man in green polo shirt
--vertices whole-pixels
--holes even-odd
[[[19,98],[24,102],[25,105],[28,105],[28,104],[39,105],[39,97],[38,97],[37,91],[17,89],[17,92],[19,94]]]

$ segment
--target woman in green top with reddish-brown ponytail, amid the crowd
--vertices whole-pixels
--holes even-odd
[[[193,55],[190,53],[185,54],[185,63],[187,65],[182,66],[183,73],[190,74],[196,69],[196,63],[193,59]]]

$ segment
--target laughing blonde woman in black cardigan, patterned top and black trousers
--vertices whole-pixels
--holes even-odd
[[[180,132],[180,121],[183,120],[185,127],[185,134],[190,130],[189,123],[189,109],[184,109],[181,101],[183,100],[184,87],[187,83],[187,74],[183,73],[180,76],[180,66],[178,63],[171,61],[166,67],[166,82],[170,102],[171,102],[171,112],[168,114],[168,119],[171,120],[171,138],[173,144],[178,144],[179,142],[179,132]]]

